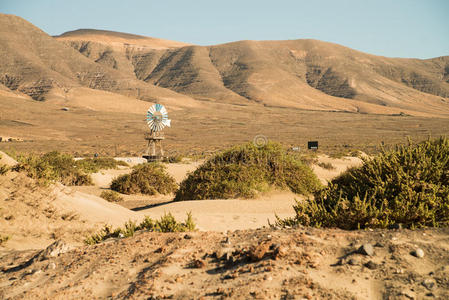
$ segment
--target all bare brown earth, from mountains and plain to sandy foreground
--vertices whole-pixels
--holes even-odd
[[[164,131],[170,154],[204,156],[258,134],[302,151],[319,140],[327,153],[373,152],[381,142],[449,134],[448,63],[315,40],[200,47],[95,30],[51,37],[0,14],[0,136],[23,140],[0,149],[138,156],[150,101],[173,120]],[[323,183],[354,163],[318,159],[336,167],[314,166]],[[171,172],[179,181],[190,166]],[[11,237],[0,245],[0,298],[449,298],[447,229],[253,229],[274,213],[293,214],[295,195],[279,192],[252,202],[97,197],[125,171],[97,174],[97,186],[83,188],[0,176],[0,238]],[[193,211],[199,229],[221,233],[144,232],[82,245],[104,223],[167,210],[178,219]],[[377,244],[374,256],[344,257],[363,243]],[[423,258],[410,254],[417,247]]]

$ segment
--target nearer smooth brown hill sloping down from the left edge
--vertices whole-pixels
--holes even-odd
[[[86,59],[22,18],[0,15],[0,84],[35,100],[50,92],[64,97],[72,88],[106,90],[148,101],[187,98],[145,84],[132,73]]]

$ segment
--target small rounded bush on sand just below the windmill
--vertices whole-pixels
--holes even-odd
[[[155,195],[173,193],[177,189],[176,181],[158,163],[137,165],[131,174],[117,177],[111,183],[111,190],[122,194]]]

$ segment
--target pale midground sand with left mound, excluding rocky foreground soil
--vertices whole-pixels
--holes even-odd
[[[13,163],[6,154],[2,157],[3,161]],[[326,156],[318,157],[318,161],[335,166],[334,170],[313,167],[323,182],[360,163],[357,158],[331,159]],[[167,172],[180,183],[201,163],[174,163],[166,164],[166,167]],[[114,178],[131,171],[129,167],[101,170],[92,174],[94,186],[65,187],[56,184],[45,189],[24,174],[9,172],[8,176],[2,176],[0,233],[10,237],[3,248],[41,248],[62,237],[79,245],[89,233],[104,224],[118,227],[129,220],[140,222],[145,216],[160,218],[166,213],[173,214],[180,221],[191,213],[197,228],[202,231],[255,229],[274,223],[275,215],[282,218],[293,216],[292,205],[300,199],[287,191],[272,191],[257,199],[181,202],[172,202],[174,195],[122,195],[124,201],[119,203],[110,203],[99,197],[102,191],[109,189]]]

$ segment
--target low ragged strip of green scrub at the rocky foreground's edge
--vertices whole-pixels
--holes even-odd
[[[124,238],[133,236],[136,231],[148,230],[155,232],[185,232],[194,231],[195,223],[193,222],[192,214],[187,213],[187,218],[184,222],[178,222],[171,213],[163,215],[159,220],[153,220],[148,216],[139,224],[136,225],[133,221],[125,223],[124,227],[113,229],[110,225],[105,225],[99,232],[87,237],[84,242],[88,245],[98,244],[108,238]]]

